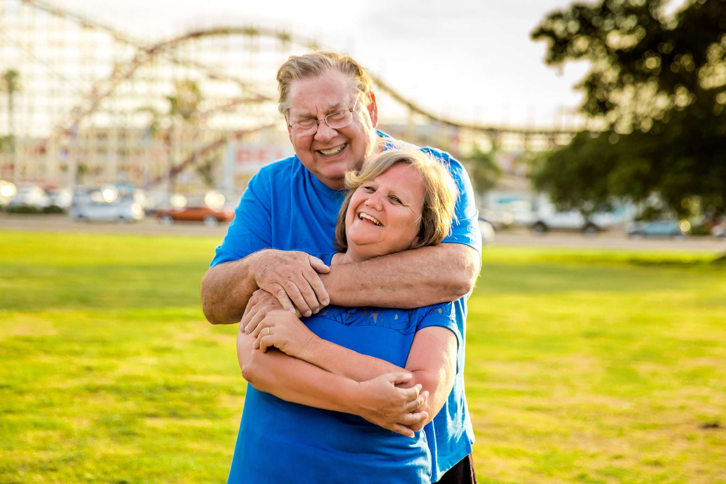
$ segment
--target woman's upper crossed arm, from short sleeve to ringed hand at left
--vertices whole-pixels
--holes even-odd
[[[250,335],[256,338],[254,348],[264,351],[275,347],[331,374],[357,382],[384,373],[410,372],[412,379],[399,386],[421,385],[422,395],[428,394],[421,406],[428,417],[421,427],[439,413],[454,386],[457,338],[445,327],[424,327],[416,332],[406,368],[323,340],[287,311],[268,313]]]

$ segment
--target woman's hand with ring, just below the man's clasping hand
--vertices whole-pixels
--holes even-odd
[[[289,356],[306,360],[319,338],[290,311],[270,311],[253,330],[256,337],[253,348],[264,353],[267,348],[277,348]]]

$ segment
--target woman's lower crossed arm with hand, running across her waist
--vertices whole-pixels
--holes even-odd
[[[237,358],[242,377],[258,390],[302,405],[356,414],[409,437],[411,427],[428,418],[425,411],[417,411],[426,394],[420,393],[420,385],[410,384],[410,372],[379,373],[356,382],[279,351],[255,350],[254,341],[253,335],[240,331]]]

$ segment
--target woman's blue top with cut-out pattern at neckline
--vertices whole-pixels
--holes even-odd
[[[462,340],[452,303],[412,310],[331,305],[301,321],[325,340],[401,367],[420,329],[444,327]],[[409,438],[248,385],[227,483],[430,483],[433,422],[427,427]]]

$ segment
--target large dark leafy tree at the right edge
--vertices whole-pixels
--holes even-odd
[[[592,131],[550,153],[535,186],[560,208],[661,200],[679,216],[726,213],[726,0],[600,0],[550,13],[532,33],[545,62],[587,60],[577,86]]]

